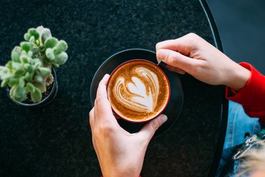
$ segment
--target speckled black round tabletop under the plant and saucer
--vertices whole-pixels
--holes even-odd
[[[157,42],[190,32],[221,50],[208,6],[198,0],[3,0],[0,21],[0,65],[28,28],[44,25],[69,44],[52,103],[22,108],[0,90],[0,176],[100,176],[88,120],[89,91],[96,70],[115,52],[155,51]],[[213,176],[216,171],[226,126],[224,87],[189,74],[180,79],[182,113],[170,130],[151,140],[143,177]]]

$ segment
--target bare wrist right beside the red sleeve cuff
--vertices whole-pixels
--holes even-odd
[[[230,68],[230,72],[228,72],[228,81],[225,85],[236,92],[240,91],[247,84],[250,76],[251,72],[248,69],[235,63],[235,65]]]

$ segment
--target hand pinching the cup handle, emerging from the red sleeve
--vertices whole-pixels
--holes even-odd
[[[172,72],[187,72],[207,84],[222,84],[235,91],[242,89],[251,75],[249,70],[194,33],[158,42],[156,55]]]

